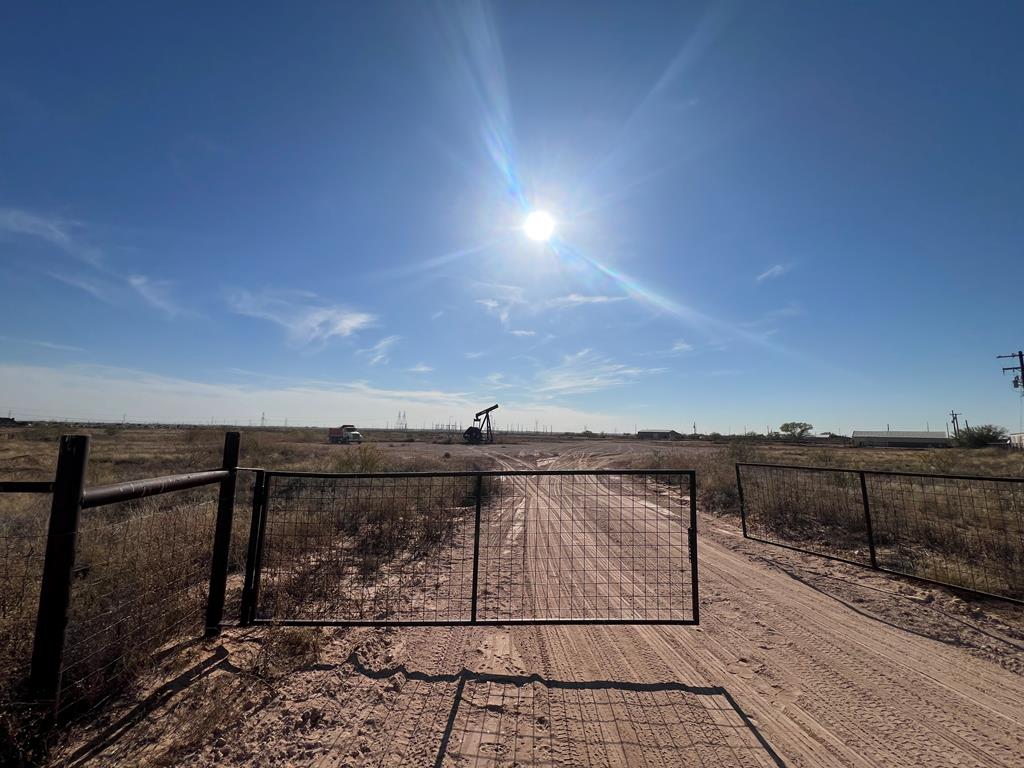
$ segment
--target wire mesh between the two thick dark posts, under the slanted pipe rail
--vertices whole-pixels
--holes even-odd
[[[82,512],[60,709],[94,705],[202,627],[216,502],[180,492]],[[205,498],[204,498],[205,497]]]

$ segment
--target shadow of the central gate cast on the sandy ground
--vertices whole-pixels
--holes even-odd
[[[389,721],[385,730],[393,729],[393,733],[403,730],[401,721],[409,716],[415,716],[421,737],[427,731],[439,732],[432,756],[435,768],[466,763],[785,765],[721,686],[554,680],[465,668],[458,673],[429,674],[404,665],[374,670],[354,653],[346,664],[356,674],[378,681],[397,676],[407,687],[417,686],[408,693],[403,689],[403,695],[437,701],[432,716],[407,701],[385,718]],[[440,700],[447,695],[451,703],[445,708]],[[388,736],[380,734],[379,743],[388,752],[375,764],[401,765],[413,757],[396,754],[403,748]]]

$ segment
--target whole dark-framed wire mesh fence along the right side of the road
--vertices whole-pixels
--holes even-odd
[[[1024,601],[1024,479],[737,464],[752,539]]]

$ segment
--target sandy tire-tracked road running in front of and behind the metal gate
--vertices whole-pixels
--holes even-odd
[[[494,458],[516,469],[604,461]],[[598,571],[630,537],[649,546],[651,526],[678,550],[664,521],[616,528],[600,522],[601,505],[622,503],[613,496],[523,487],[484,528],[483,546],[506,556],[483,577],[492,610],[562,611],[567,596],[581,614],[650,608],[649,585],[622,563],[614,579],[574,585],[559,563]],[[552,509],[571,524],[553,525]],[[699,524],[699,627],[338,633],[321,664],[282,680],[226,746],[191,763],[1024,765],[1024,611],[745,542],[733,521]]]

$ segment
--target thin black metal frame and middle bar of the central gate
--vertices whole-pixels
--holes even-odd
[[[689,478],[689,526],[686,543],[690,561],[691,618],[477,618],[477,573],[480,549],[481,485],[484,477],[538,477],[538,476],[677,476]],[[258,618],[260,575],[263,565],[263,548],[266,539],[266,520],[269,511],[270,484],[274,477],[315,477],[325,479],[386,479],[398,477],[475,477],[475,512],[473,520],[473,586],[469,620],[318,620],[318,618]],[[697,572],[697,475],[692,469],[509,469],[463,470],[456,472],[302,472],[293,470],[258,470],[253,486],[253,511],[249,525],[249,545],[246,556],[245,582],[242,593],[240,624],[275,625],[284,627],[502,627],[506,625],[685,625],[700,623],[699,578]]]

